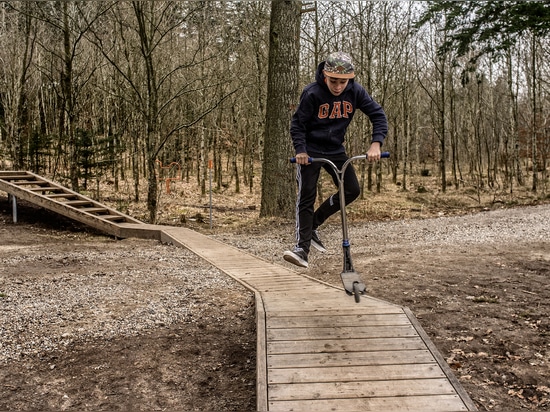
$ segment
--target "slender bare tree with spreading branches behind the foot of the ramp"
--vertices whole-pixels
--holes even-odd
[[[213,58],[214,51],[206,50],[206,39],[187,42],[184,33],[180,32],[186,22],[197,18],[202,6],[200,3],[189,5],[191,7],[185,9],[178,2],[134,1],[127,9],[125,4],[119,4],[113,8],[112,17],[118,27],[116,30],[126,37],[115,39],[117,43],[113,43],[100,35],[101,29],[94,32],[94,43],[128,85],[126,94],[121,97],[139,114],[136,120],[141,126],[136,130],[144,143],[151,222],[156,221],[158,207],[157,159],[165,144],[180,130],[200,122],[236,91],[230,90],[217,99],[205,98],[207,93],[215,95],[219,82],[210,74],[207,77],[205,70],[199,82],[193,72],[195,68],[204,67]],[[184,47],[182,42],[187,42]],[[118,53],[118,48],[125,52]],[[181,50],[187,51],[188,60],[172,61],[166,57]],[[186,107],[186,99],[198,93],[203,98],[195,100],[194,110],[181,115],[177,111],[179,105],[183,103]],[[140,142],[134,143],[137,153]]]

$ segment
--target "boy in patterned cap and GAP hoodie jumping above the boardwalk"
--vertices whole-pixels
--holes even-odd
[[[340,210],[338,192],[330,196],[314,211],[317,181],[323,167],[337,184],[334,171],[324,163],[308,163],[309,157],[330,159],[341,168],[348,159],[344,136],[355,110],[365,113],[373,127],[367,159],[380,159],[380,147],[388,132],[386,114],[367,91],[354,81],[351,57],[342,52],[331,53],[321,62],[315,73],[316,81],[302,91],[300,104],[292,116],[290,135],[296,150],[298,199],[296,202],[296,245],[283,253],[283,258],[297,266],[308,267],[310,246],[320,251],[325,248],[317,228]],[[344,176],[346,204],[360,194],[359,182],[353,166]]]

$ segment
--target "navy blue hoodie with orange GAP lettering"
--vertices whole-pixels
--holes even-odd
[[[382,145],[388,133],[384,109],[353,79],[339,96],[334,96],[325,83],[324,65],[325,62],[321,62],[317,67],[316,81],[304,88],[300,104],[292,116],[290,135],[296,154],[344,153],[344,136],[357,109],[372,123],[372,141]]]

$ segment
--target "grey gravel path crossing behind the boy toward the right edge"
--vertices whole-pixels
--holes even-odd
[[[328,255],[341,253],[342,229],[339,216],[333,216],[320,229]],[[349,237],[355,252],[378,254],[380,248],[475,246],[476,244],[514,244],[550,242],[550,205],[499,209],[465,216],[440,216],[389,222],[350,223]],[[253,236],[220,234],[216,238],[276,263],[294,242],[288,226],[258,230]],[[549,248],[550,253],[550,248]],[[310,258],[315,259],[315,251]]]

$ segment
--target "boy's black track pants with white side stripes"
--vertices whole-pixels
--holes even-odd
[[[340,169],[348,159],[345,154],[330,157],[330,160]],[[311,232],[317,229],[325,220],[340,210],[340,195],[336,192],[328,197],[317,210],[314,211],[317,198],[317,181],[321,168],[324,168],[338,187],[338,179],[332,167],[321,162],[314,162],[307,166],[298,165],[296,180],[298,183],[298,199],[296,201],[296,246],[309,253]],[[360,194],[359,182],[352,165],[346,169],[344,176],[344,193],[346,205],[353,202]]]

